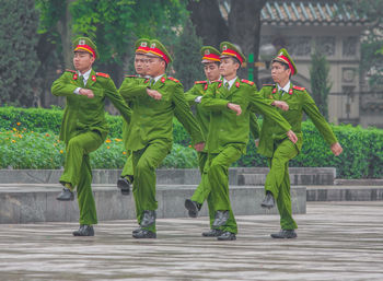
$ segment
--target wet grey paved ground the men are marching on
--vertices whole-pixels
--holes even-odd
[[[237,216],[235,242],[205,238],[206,218],[161,219],[158,239],[135,221],[0,225],[0,280],[383,280],[383,202],[310,202],[297,239],[276,241],[278,215]]]

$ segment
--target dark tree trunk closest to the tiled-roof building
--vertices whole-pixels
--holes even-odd
[[[254,61],[258,59],[260,38],[260,10],[267,0],[235,0],[231,1],[229,13],[229,38],[237,44],[244,55],[248,58],[254,55]],[[247,66],[248,68],[248,66]],[[258,69],[254,69],[254,82],[258,81]],[[247,77],[247,69],[240,73]]]

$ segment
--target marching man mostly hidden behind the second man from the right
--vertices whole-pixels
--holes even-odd
[[[200,99],[205,95],[208,86],[216,80],[220,79],[220,56],[218,49],[210,46],[205,46],[200,49],[204,65],[205,75],[207,78],[206,81],[196,81],[195,85],[185,93],[186,101],[196,106],[196,118],[201,127],[204,138],[207,139],[209,132],[209,121],[210,121],[210,112],[202,108],[200,104]],[[208,160],[208,151],[205,148],[202,151],[198,152],[198,166],[201,175],[204,174],[204,167]],[[206,199],[208,199],[209,211],[212,210],[211,200],[209,200],[208,192],[205,191],[204,188],[204,179],[195,190],[194,195],[190,199],[185,200],[185,208],[188,210],[188,214],[190,218],[197,218],[199,210],[202,207],[202,203]],[[207,178],[206,178],[207,179]],[[206,180],[205,179],[205,180]],[[210,213],[210,218],[214,216],[214,213]]]

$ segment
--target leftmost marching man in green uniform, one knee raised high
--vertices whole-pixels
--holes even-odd
[[[74,236],[93,236],[93,224],[97,223],[96,208],[91,188],[92,169],[90,153],[97,150],[105,141],[108,127],[105,119],[105,97],[129,121],[131,110],[118,94],[108,74],[92,69],[98,57],[95,44],[88,37],[73,42],[76,71],[67,70],[53,86],[56,96],[66,96],[67,105],[60,130],[60,140],[66,143],[66,161],[60,183],[63,185],[60,201],[74,200],[77,188],[80,227]]]

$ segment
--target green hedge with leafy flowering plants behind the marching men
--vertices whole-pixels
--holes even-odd
[[[13,168],[58,168],[62,166],[62,154],[53,147],[57,142],[62,110],[59,108],[14,108],[0,107],[0,168],[12,166]],[[119,116],[107,115],[111,127],[108,138],[118,139],[121,136],[121,118]],[[383,130],[362,129],[351,126],[333,126],[333,130],[344,148],[344,153],[336,157],[330,152],[328,145],[315,129],[311,121],[302,125],[304,132],[304,143],[302,153],[291,161],[290,166],[312,167],[312,166],[334,166],[337,168],[337,176],[341,178],[381,178],[383,175]],[[10,145],[10,139],[4,137],[24,132],[25,137],[19,138],[25,141]],[[33,131],[33,132],[32,132]],[[33,134],[35,133],[35,134]],[[44,137],[48,133],[50,137]],[[163,162],[165,167],[196,167],[196,152],[188,148],[189,136],[182,125],[174,120],[174,145],[172,154]],[[116,143],[115,143],[116,142]],[[14,144],[14,143],[11,143]],[[107,147],[111,147],[107,149]],[[34,152],[31,152],[33,150]],[[118,141],[112,141],[109,145],[103,144],[100,150],[92,153],[94,167],[115,168],[124,165],[124,149]],[[33,153],[33,154],[31,154]],[[33,155],[33,156],[31,156]],[[38,163],[32,163],[31,159]],[[256,153],[254,141],[247,145],[247,154],[243,155],[235,166],[266,166],[266,159]]]

